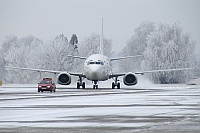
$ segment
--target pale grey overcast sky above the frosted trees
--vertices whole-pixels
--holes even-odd
[[[6,35],[47,41],[63,33],[79,42],[92,33],[111,39],[120,51],[143,21],[180,23],[200,42],[200,0],[0,0],[0,42]]]

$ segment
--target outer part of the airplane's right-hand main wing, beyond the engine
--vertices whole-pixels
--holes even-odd
[[[175,68],[175,69],[163,69],[163,70],[150,70],[143,72],[135,72],[135,74],[145,74],[145,73],[154,73],[154,72],[169,72],[169,71],[183,71],[183,70],[194,70],[195,68]]]

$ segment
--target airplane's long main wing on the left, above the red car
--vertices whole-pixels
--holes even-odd
[[[59,74],[63,71],[55,71],[55,70],[45,70],[45,69],[33,69],[33,68],[21,68],[21,67],[11,67],[11,66],[5,66],[5,68],[10,68],[10,69],[20,69],[20,70],[29,70],[29,71],[37,71],[37,72],[49,72],[49,73],[55,73]],[[83,73],[73,73],[69,72],[70,75],[73,76],[79,76],[79,77],[85,77]]]

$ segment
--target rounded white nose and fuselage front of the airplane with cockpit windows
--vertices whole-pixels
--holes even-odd
[[[111,74],[110,59],[101,54],[89,56],[84,63],[84,75],[88,80],[104,81]]]

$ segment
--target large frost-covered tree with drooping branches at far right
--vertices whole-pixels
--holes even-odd
[[[195,42],[184,34],[179,25],[159,24],[147,38],[145,69],[173,69],[195,66]],[[192,71],[152,73],[150,77],[158,83],[183,83],[192,76]]]

